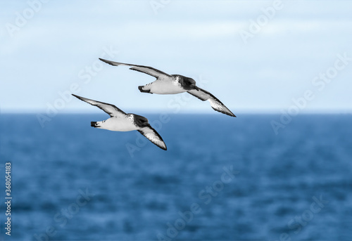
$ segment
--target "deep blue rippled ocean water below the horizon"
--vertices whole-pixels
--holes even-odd
[[[0,115],[1,239],[352,240],[351,115],[144,116],[167,151],[107,115]]]

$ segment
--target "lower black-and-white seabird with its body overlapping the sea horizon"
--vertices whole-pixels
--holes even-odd
[[[108,103],[103,103],[96,100],[90,100],[88,98],[83,98],[81,96],[76,96],[76,98],[83,100],[91,105],[94,105],[101,110],[105,111],[110,115],[111,118],[103,120],[101,122],[91,122],[91,126],[99,129],[106,129],[109,131],[134,131],[137,130],[139,133],[142,133],[143,136],[148,138],[149,141],[158,145],[159,148],[166,150],[166,145],[163,141],[163,138],[156,132],[153,127],[148,122],[146,117],[134,114],[126,114],[115,105]]]

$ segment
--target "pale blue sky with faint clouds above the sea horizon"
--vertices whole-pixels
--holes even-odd
[[[97,62],[101,57],[201,78],[235,114],[287,110],[306,91],[314,98],[301,112],[352,112],[352,61],[337,57],[352,57],[352,1],[283,1],[271,19],[263,8],[274,1],[170,1],[157,11],[151,3],[159,0],[48,1],[37,12],[28,2],[0,3],[1,112],[45,112],[55,103],[64,103],[62,113],[99,112],[58,100],[72,84],[77,95],[126,112],[176,111],[178,97],[139,92],[153,77]],[[18,14],[30,19],[11,34]],[[268,21],[245,43],[241,33],[258,18]],[[329,83],[312,83],[327,71],[336,75]],[[182,101],[180,112],[213,113],[208,102]]]

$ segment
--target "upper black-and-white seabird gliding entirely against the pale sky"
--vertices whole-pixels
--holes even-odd
[[[138,86],[139,91],[145,93],[158,93],[158,94],[173,94],[173,93],[183,93],[188,92],[192,96],[199,98],[200,100],[209,100],[211,107],[221,112],[225,115],[230,115],[231,117],[236,117],[218,98],[213,96],[208,91],[205,91],[196,86],[194,79],[189,77],[184,77],[180,74],[166,74],[160,70],[156,70],[153,67],[143,66],[143,65],[130,65],[126,63],[118,63],[110,60],[104,60],[99,58],[99,60],[108,63],[109,65],[125,65],[132,66],[130,70],[136,70],[138,72],[143,72],[156,77],[154,82],[146,84],[145,86]]]

